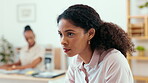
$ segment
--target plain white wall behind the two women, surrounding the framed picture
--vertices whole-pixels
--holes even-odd
[[[17,5],[30,3],[36,4],[36,21],[18,22]],[[38,43],[60,46],[56,18],[67,7],[76,3],[92,6],[104,21],[117,23],[126,29],[125,0],[0,0],[0,36],[3,34],[14,46],[22,46],[26,43],[23,29],[29,24],[36,33]]]

